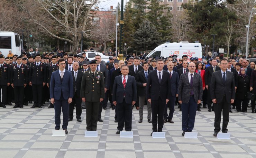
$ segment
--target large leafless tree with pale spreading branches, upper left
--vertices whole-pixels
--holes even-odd
[[[68,41],[72,52],[79,46],[81,32],[90,36],[91,16],[100,0],[17,0],[27,13],[23,20],[31,21],[45,35]]]

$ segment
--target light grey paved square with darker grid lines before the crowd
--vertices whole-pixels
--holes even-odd
[[[133,110],[133,138],[116,134],[115,110],[109,108],[102,110],[104,122],[98,122],[98,138],[84,137],[85,109],[82,122],[74,119],[68,123],[69,133],[65,137],[52,137],[54,109],[30,106],[13,109],[8,105],[0,109],[1,158],[256,158],[256,115],[249,108],[248,113],[230,113],[231,139],[219,140],[213,137],[214,112],[203,108],[196,112],[193,130],[198,132],[198,139],[181,136],[179,109],[174,111],[174,124],[164,124],[166,138],[155,139],[150,136],[152,124],[147,122],[145,106],[142,123],[138,123],[139,111]]]

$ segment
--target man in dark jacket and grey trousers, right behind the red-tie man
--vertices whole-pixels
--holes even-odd
[[[138,87],[138,96],[139,96],[139,123],[142,122],[143,120],[143,107],[146,99],[146,85],[147,85],[147,78],[148,78],[148,73],[151,72],[148,67],[149,64],[147,62],[144,62],[143,65],[143,70],[139,71],[136,76],[136,84]],[[148,115],[147,119],[149,123],[152,123],[151,121],[151,104],[147,101],[147,110],[148,110]]]

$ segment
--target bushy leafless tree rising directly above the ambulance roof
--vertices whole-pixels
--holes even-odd
[[[184,41],[191,38],[190,33],[194,32],[192,20],[185,11],[178,11],[171,16],[168,21],[171,23],[169,36],[174,41]]]

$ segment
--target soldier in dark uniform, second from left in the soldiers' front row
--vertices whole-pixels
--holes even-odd
[[[22,64],[22,57],[16,59],[17,64],[13,66],[11,73],[11,86],[14,88],[15,106],[13,108],[23,108],[24,103],[24,87],[28,84],[27,66]]]

